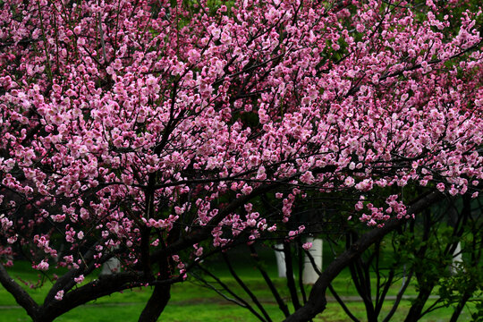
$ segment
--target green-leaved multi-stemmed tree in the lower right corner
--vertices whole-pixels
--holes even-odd
[[[402,224],[375,242],[348,266],[369,321],[378,318],[390,321],[397,314],[396,309],[411,280],[416,282],[418,295],[411,303],[406,321],[417,321],[428,312],[449,305],[453,305],[454,311],[448,318],[456,321],[467,301],[478,301],[482,287],[476,273],[481,270],[481,208],[478,201],[471,204],[471,199],[466,196],[439,202],[425,209],[416,220]],[[453,218],[449,218],[450,212],[453,212]],[[346,235],[345,249],[348,249],[357,242],[360,233],[348,231]],[[457,253],[459,243],[463,247]],[[340,245],[334,248],[340,249]],[[454,261],[457,256],[462,258],[461,261]],[[371,275],[375,275],[375,283],[371,282]],[[386,316],[381,317],[386,295],[391,285],[398,281],[402,284],[394,305]],[[343,303],[333,288],[331,292],[348,315],[357,321],[349,313],[349,305]],[[439,298],[429,304],[431,294],[437,294]]]

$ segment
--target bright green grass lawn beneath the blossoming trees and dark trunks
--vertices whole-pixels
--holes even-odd
[[[238,258],[243,261],[243,258]],[[212,265],[214,263],[211,263]],[[235,263],[236,264],[236,263]],[[276,275],[276,267],[274,263],[267,265],[270,276]],[[209,263],[208,263],[209,265]],[[237,266],[240,267],[240,266]],[[213,265],[213,271],[224,281],[225,284],[233,286],[238,294],[244,299],[248,296],[242,292],[242,289],[230,277],[228,270],[223,265]],[[243,281],[253,290],[260,301],[264,304],[268,314],[274,321],[280,321],[284,318],[278,309],[267,285],[264,283],[258,271],[254,267],[247,265],[241,266],[238,270]],[[35,281],[37,275],[29,271],[28,263],[18,263],[10,269],[10,274],[17,279],[24,281]],[[286,281],[282,278],[274,278],[275,285],[284,299],[289,299],[290,295],[286,288]],[[350,275],[347,271],[343,271],[334,282],[335,290],[342,296],[357,295],[355,289],[350,283]],[[29,290],[34,300],[41,302],[47,294],[50,282],[44,286]],[[395,294],[400,285],[396,284],[390,290],[389,294]],[[308,287],[309,292],[309,287]],[[410,286],[406,292],[408,295],[415,295],[414,287]],[[143,309],[143,303],[148,300],[150,289],[134,289],[123,293],[114,293],[109,297],[90,302],[80,308],[73,309],[64,316],[57,318],[58,322],[74,322],[74,321],[92,321],[92,322],[110,322],[110,321],[135,321]],[[328,295],[331,295],[328,293]],[[387,312],[391,308],[393,301],[386,301],[383,311]],[[361,321],[366,320],[366,311],[361,301],[347,301],[348,307],[352,313],[360,318]],[[411,306],[411,301],[405,300],[400,304],[398,311],[392,318],[392,321],[398,322],[405,318],[405,314]],[[292,308],[290,308],[292,310]],[[447,321],[453,312],[452,308],[438,309],[431,312],[421,321],[436,322]],[[382,317],[385,315],[383,314]],[[0,321],[16,322],[30,321],[23,309],[17,306],[13,297],[0,286]],[[247,309],[243,309],[225,299],[221,298],[216,292],[208,290],[194,279],[189,279],[183,284],[175,284],[172,288],[172,299],[166,307],[165,311],[159,318],[160,321],[180,321],[180,322],[231,322],[231,321],[258,321]],[[348,321],[343,309],[335,301],[329,301],[326,310],[314,319],[317,322],[339,322]],[[470,320],[470,309],[465,309],[462,313],[460,321]]]

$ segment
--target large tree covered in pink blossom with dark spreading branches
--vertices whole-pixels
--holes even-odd
[[[0,282],[36,321],[153,285],[155,320],[200,242],[273,233],[309,189],[359,191],[378,227],[410,216],[408,184],[476,197],[480,11],[427,5],[2,1]],[[43,304],[4,268],[20,253],[71,268]]]

